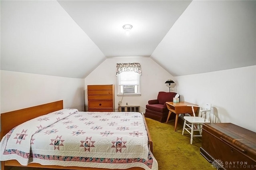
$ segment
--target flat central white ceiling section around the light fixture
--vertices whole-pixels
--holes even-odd
[[[58,0],[106,57],[150,57],[191,0]],[[131,34],[122,28],[131,24]]]

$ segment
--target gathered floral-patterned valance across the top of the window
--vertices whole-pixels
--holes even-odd
[[[134,71],[141,75],[140,63],[116,63],[116,76],[124,71]]]

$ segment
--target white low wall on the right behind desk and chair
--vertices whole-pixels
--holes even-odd
[[[256,65],[175,77],[181,100],[212,103],[221,123],[256,132]]]

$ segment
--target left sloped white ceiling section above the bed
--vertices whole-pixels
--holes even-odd
[[[1,1],[1,69],[84,78],[105,55],[57,1]]]

